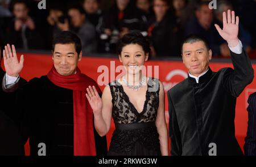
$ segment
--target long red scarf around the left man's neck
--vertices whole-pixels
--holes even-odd
[[[73,90],[74,155],[95,156],[93,111],[85,97],[85,93],[89,85],[94,85],[97,91],[101,93],[97,83],[89,76],[81,74],[78,67],[76,74],[70,76],[60,75],[55,67],[52,67],[47,77],[53,84]]]

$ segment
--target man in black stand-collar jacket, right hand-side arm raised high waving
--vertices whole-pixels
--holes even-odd
[[[238,39],[238,16],[223,13],[223,29],[233,68],[213,72],[212,50],[203,37],[189,36],[182,46],[188,78],[168,91],[172,155],[243,155],[236,140],[236,100],[254,78],[250,59]]]

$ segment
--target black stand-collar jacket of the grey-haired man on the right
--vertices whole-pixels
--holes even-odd
[[[188,76],[168,92],[171,155],[242,155],[236,140],[236,99],[252,82],[249,57],[232,53],[232,68],[208,70],[196,83]]]

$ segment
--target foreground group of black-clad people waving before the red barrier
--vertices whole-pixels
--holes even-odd
[[[183,40],[188,78],[167,91],[171,155],[243,155],[235,132],[236,100],[253,82],[254,69],[238,37],[239,16],[230,10],[222,16],[214,27],[228,44],[234,68],[212,71],[207,39],[189,35]],[[168,156],[164,85],[142,72],[152,47],[147,37],[129,32],[118,41],[124,72],[103,91],[77,66],[82,46],[75,33],[58,33],[52,40],[51,70],[27,83],[19,75],[23,55],[18,60],[15,46],[5,46],[0,155],[24,155],[29,138],[32,156]],[[244,152],[255,156],[255,93],[248,102]],[[112,118],[115,130],[108,149]]]

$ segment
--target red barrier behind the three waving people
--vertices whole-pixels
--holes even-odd
[[[42,75],[46,75],[48,71],[52,67],[52,57],[49,55],[43,55],[43,54],[25,54],[25,62],[24,62],[24,68],[22,72],[20,73],[20,76],[22,76],[24,79],[30,80],[34,78],[35,76],[40,77]],[[119,60],[113,59],[113,58],[97,58],[97,57],[83,57],[81,62],[79,62],[79,67],[82,71],[82,73],[90,76],[94,80],[97,81],[98,76],[102,74],[101,71],[97,72],[97,69],[99,66],[106,66],[108,69],[110,69],[110,61],[112,62],[112,65],[115,65],[117,67],[118,65],[121,65]],[[164,84],[164,89],[168,91],[171,87],[173,87],[175,84],[181,82],[184,78],[187,77],[187,68],[183,65],[183,62],[181,61],[148,61],[146,62],[146,66],[159,66],[159,79]],[[212,68],[213,71],[217,71],[220,68],[223,67],[233,67],[231,63],[220,63],[220,62],[211,62],[210,68]],[[253,65],[254,70],[256,69],[256,65]],[[154,67],[153,67],[154,69]],[[110,76],[110,70],[104,71],[108,72],[108,75]],[[113,72],[112,72],[113,75]],[[116,77],[118,75],[114,74]],[[110,82],[111,80],[109,80]],[[101,89],[104,88],[103,86],[100,86]],[[235,119],[235,125],[236,125],[236,138],[240,144],[240,147],[243,148],[244,138],[246,136],[247,131],[247,99],[249,95],[256,91],[256,82],[255,80],[253,83],[248,85],[245,90],[241,93],[241,95],[237,99],[237,106],[236,106],[236,119]],[[165,99],[166,101],[166,120],[168,123],[168,102],[167,97]],[[108,145],[110,143],[110,139],[112,136],[114,130],[114,124],[112,123],[112,127],[110,129],[110,132],[108,133]],[[26,155],[29,155],[29,145],[26,144]]]

